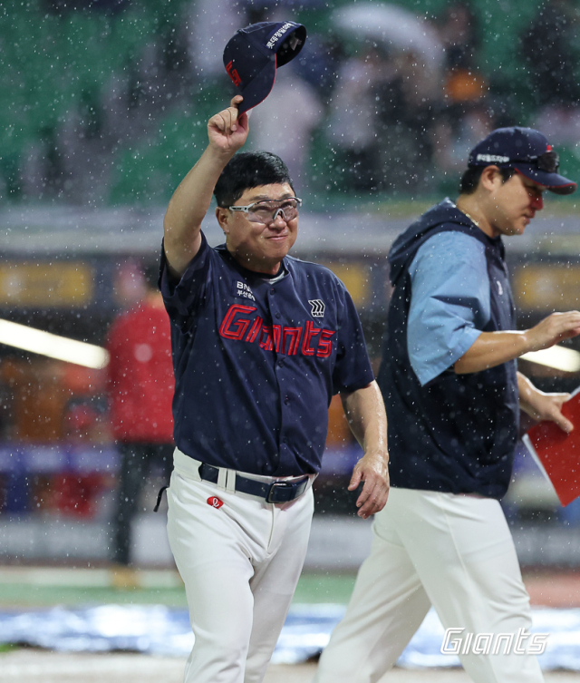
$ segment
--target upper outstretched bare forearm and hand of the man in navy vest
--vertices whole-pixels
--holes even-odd
[[[514,360],[530,351],[554,346],[563,339],[580,335],[580,312],[552,313],[535,327],[522,332],[482,332],[467,352],[455,362],[455,372],[487,370]]]

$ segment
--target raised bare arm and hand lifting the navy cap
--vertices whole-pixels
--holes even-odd
[[[169,272],[180,278],[201,246],[201,221],[208,213],[221,171],[247,139],[247,113],[237,115],[244,98],[236,95],[230,106],[208,121],[208,147],[179,183],[163,220],[164,247]]]

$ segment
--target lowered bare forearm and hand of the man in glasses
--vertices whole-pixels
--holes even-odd
[[[341,394],[344,415],[364,455],[354,466],[349,491],[364,482],[356,506],[358,515],[367,519],[380,512],[389,495],[389,453],[387,451],[387,415],[381,390],[376,382]]]

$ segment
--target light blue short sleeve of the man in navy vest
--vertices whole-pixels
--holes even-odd
[[[421,385],[459,360],[488,323],[484,245],[462,232],[428,239],[411,262],[407,349]]]

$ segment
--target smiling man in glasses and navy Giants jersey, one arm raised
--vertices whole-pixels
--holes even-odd
[[[235,152],[247,114],[208,122],[208,148],[164,221],[160,287],[175,371],[171,550],[195,645],[188,683],[264,678],[302,569],[328,405],[340,393],[364,454],[349,488],[366,519],[388,494],[386,416],[353,301],[287,256],[301,200],[283,161]],[[201,222],[212,193],[226,244]]]

